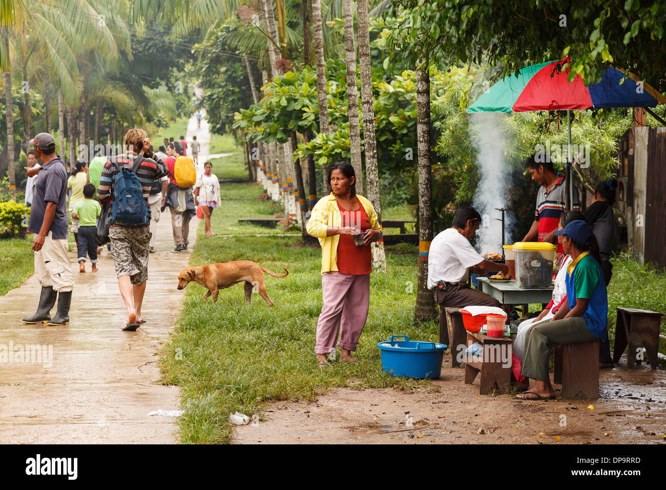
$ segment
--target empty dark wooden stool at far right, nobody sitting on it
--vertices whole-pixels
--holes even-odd
[[[641,364],[642,359],[636,359],[638,349],[645,347],[650,367],[657,369],[657,352],[659,351],[659,325],[663,313],[647,309],[618,308],[615,323],[615,344],[613,345],[613,362],[617,363],[627,344],[627,367],[631,369],[634,361]]]

